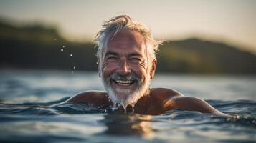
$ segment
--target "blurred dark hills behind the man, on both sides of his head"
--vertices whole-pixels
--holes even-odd
[[[0,69],[95,71],[94,46],[67,41],[51,27],[0,22]],[[166,42],[159,49],[157,72],[256,74],[256,56],[226,44],[186,39]]]

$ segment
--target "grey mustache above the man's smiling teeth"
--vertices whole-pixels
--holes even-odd
[[[131,72],[129,74],[125,74],[125,75],[121,75],[121,74],[118,74],[115,72],[115,73],[111,74],[110,79],[112,79],[112,80],[133,80],[136,82],[141,82],[140,77],[138,77],[133,72]]]

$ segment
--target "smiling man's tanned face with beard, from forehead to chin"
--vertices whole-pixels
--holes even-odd
[[[137,31],[121,31],[110,38],[104,53],[100,69],[110,99],[121,104],[137,102],[147,91],[156,64],[148,63],[143,36]]]

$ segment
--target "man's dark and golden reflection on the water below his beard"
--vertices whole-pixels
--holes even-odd
[[[105,114],[101,120],[108,129],[104,134],[120,136],[138,136],[144,139],[153,138],[151,115],[141,114]]]

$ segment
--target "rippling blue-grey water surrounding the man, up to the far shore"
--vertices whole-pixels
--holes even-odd
[[[235,118],[171,110],[120,114],[64,104],[77,92],[103,90],[95,72],[0,71],[0,142],[256,142],[256,77],[158,74],[151,87],[206,99]]]

